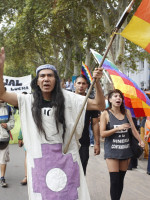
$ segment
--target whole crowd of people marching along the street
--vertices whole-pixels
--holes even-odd
[[[119,200],[124,177],[133,157],[129,130],[132,129],[133,136],[143,148],[144,141],[135,127],[130,111],[125,109],[122,92],[113,90],[104,97],[100,85],[103,69],[95,68],[93,72],[96,79],[95,95],[88,98],[69,141],[85,101],[88,89],[86,77],[79,75],[74,84],[71,80],[60,82],[56,68],[45,64],[36,69],[36,77],[31,82],[32,94],[9,93],[3,84],[4,62],[5,51],[2,48],[0,136],[7,138],[7,141],[0,140],[1,186],[7,187],[5,171],[9,161],[10,130],[15,123],[12,109],[8,106],[10,104],[18,107],[20,114],[18,141],[20,147],[24,145],[26,154],[25,178],[21,184],[28,183],[29,199],[90,200],[85,175],[92,131],[95,155],[100,154],[100,136],[105,138],[104,159],[110,174],[110,196],[112,200]],[[148,142],[149,131],[147,123],[145,140]],[[68,144],[67,153],[63,153]],[[150,162],[148,174],[149,168]]]

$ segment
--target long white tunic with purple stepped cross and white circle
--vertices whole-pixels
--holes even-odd
[[[78,140],[84,128],[84,108],[67,154],[66,146],[85,97],[63,91],[65,97],[66,133],[59,133],[55,123],[55,108],[43,108],[43,127],[49,141],[39,134],[32,117],[33,96],[18,94],[23,140],[27,150],[29,200],[90,200],[79,157]]]

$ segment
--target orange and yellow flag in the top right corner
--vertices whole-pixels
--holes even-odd
[[[150,0],[143,0],[121,35],[150,53]]]

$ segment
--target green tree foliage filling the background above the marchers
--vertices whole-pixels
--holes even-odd
[[[0,22],[3,22],[0,27],[0,46],[5,46],[6,51],[5,74],[34,76],[37,66],[51,63],[56,66],[60,76],[72,76],[74,63],[80,71],[87,50],[93,48],[103,54],[111,32],[125,4],[129,2],[0,0]],[[134,11],[140,2],[136,1]],[[117,45],[119,43],[116,43],[118,48]],[[147,53],[137,50],[138,47],[128,41],[125,51],[119,55],[117,48],[113,46],[111,52],[114,51],[113,57],[119,66],[125,62],[126,67],[135,70],[135,58],[148,57]]]

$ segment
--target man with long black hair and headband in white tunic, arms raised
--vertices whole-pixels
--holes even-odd
[[[18,106],[27,151],[30,200],[90,200],[78,153],[85,110],[104,109],[99,83],[102,69],[95,69],[96,97],[89,99],[79,120],[68,152],[63,154],[85,97],[62,90],[53,65],[41,65],[31,86],[32,94],[8,93],[3,85],[4,48],[0,52],[0,97]]]

